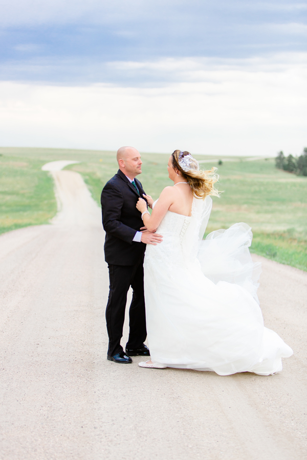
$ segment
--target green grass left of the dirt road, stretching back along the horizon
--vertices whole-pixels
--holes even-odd
[[[100,156],[86,150],[0,148],[0,234],[55,216],[53,179],[42,165],[63,158],[95,163]]]

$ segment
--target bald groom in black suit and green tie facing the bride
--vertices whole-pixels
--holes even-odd
[[[107,359],[132,362],[130,356],[146,355],[146,319],[143,260],[146,244],[162,241],[161,235],[140,232],[143,226],[136,204],[144,190],[136,176],[142,172],[140,153],[133,147],[117,151],[119,170],[101,193],[102,225],[105,230],[104,255],[109,270],[109,296],[106,306],[106,328],[109,338]],[[133,288],[129,309],[129,338],[126,353],[120,344],[123,335],[127,292]]]

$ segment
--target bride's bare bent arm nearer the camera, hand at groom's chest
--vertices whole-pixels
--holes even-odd
[[[155,204],[155,207],[153,208],[151,215],[143,215],[144,225],[149,230],[149,232],[156,231],[161,220],[167,213],[169,206],[174,202],[175,194],[176,191],[173,187],[165,187],[165,189],[162,190],[159,200]],[[139,198],[139,201],[137,202],[137,209],[141,213],[147,211],[146,201],[142,198]]]

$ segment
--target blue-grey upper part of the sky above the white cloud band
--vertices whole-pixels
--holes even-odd
[[[307,3],[280,0],[11,0],[0,19],[1,78],[68,84],[163,81],[161,74],[127,76],[104,64],[302,52],[306,16]]]

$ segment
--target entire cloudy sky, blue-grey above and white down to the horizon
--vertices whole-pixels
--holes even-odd
[[[1,0],[0,145],[307,146],[307,2]]]

